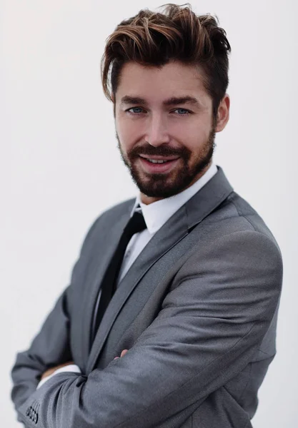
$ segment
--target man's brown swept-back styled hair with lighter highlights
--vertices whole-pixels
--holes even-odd
[[[106,39],[101,58],[104,94],[112,101],[121,69],[129,61],[157,67],[180,61],[199,66],[203,71],[204,88],[212,98],[215,118],[229,84],[231,46],[226,31],[218,26],[217,16],[216,19],[210,14],[197,16],[188,3],[160,7],[164,6],[163,14],[141,9],[136,16],[121,21]]]

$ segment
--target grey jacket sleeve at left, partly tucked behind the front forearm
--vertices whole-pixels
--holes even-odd
[[[72,360],[69,345],[69,314],[67,310],[67,296],[71,292],[71,283],[76,275],[81,274],[84,263],[84,249],[89,245],[89,240],[99,218],[91,225],[84,242],[78,260],[71,272],[71,282],[61,294],[44,321],[40,332],[28,350],[16,355],[14,367],[11,370],[13,388],[11,399],[16,409],[36,390],[41,374],[50,367],[55,367]],[[18,418],[19,419],[19,418]]]

